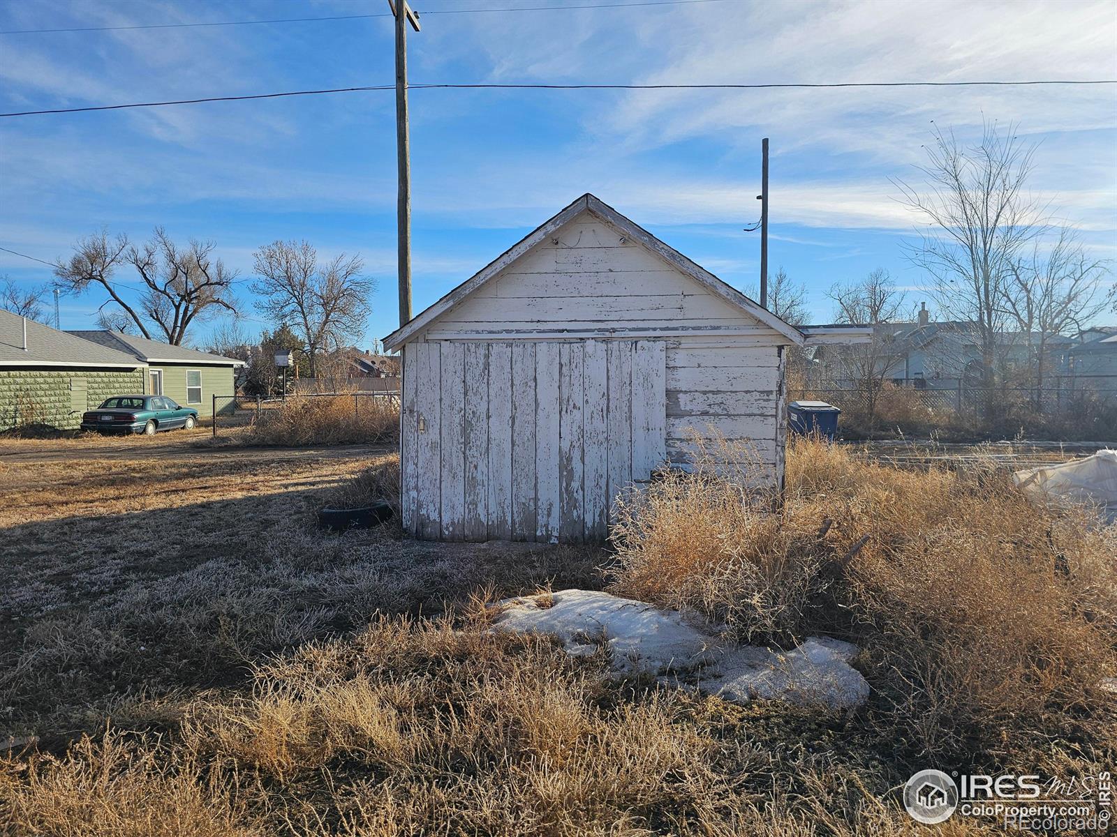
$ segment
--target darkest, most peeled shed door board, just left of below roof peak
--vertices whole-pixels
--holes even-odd
[[[585,538],[586,509],[583,488],[585,454],[582,440],[584,345],[564,343],[558,346],[558,392],[562,411],[558,416],[558,536],[576,543]]]

